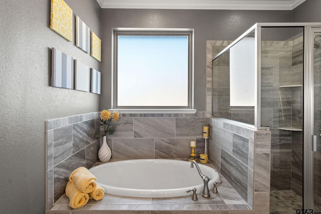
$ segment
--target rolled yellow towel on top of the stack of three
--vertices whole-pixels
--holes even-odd
[[[71,172],[69,180],[74,182],[77,188],[84,193],[92,192],[97,185],[97,178],[85,167],[79,167]]]

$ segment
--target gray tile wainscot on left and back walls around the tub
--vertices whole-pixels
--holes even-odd
[[[113,159],[188,158],[191,140],[204,152],[204,112],[196,114],[121,114],[107,143]],[[99,112],[46,121],[47,209],[65,193],[70,173],[98,161]]]

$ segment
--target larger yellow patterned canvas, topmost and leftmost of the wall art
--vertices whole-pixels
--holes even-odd
[[[72,41],[72,10],[63,0],[51,0],[50,29]]]

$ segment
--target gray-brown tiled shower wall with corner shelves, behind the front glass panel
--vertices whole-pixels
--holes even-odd
[[[261,120],[271,130],[271,190],[302,195],[303,42],[262,41]]]

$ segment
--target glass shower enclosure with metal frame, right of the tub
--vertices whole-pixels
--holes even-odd
[[[320,43],[321,23],[257,23],[212,61],[212,116],[271,131],[270,212],[321,211]]]

